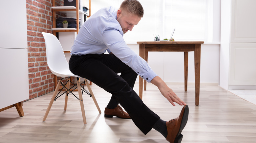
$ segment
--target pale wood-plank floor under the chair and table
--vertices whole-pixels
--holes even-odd
[[[193,84],[184,91],[183,85],[169,84],[189,106],[189,119],[182,134],[182,143],[255,143],[256,105],[249,103],[217,85],[200,87],[200,103],[195,106]],[[65,97],[53,102],[42,122],[53,92],[23,103],[24,117],[16,108],[0,112],[1,143],[165,143],[164,137],[152,129],[144,135],[131,119],[104,118],[110,94],[92,85],[101,108],[99,114],[91,97],[84,94],[87,125],[83,125],[79,101],[69,96],[67,111]],[[135,85],[138,93],[138,84]],[[11,92],[11,91],[10,91]],[[77,92],[75,92],[78,95]],[[8,96],[8,95],[6,95]],[[172,106],[158,89],[148,84],[143,102],[161,119],[176,118],[182,106]]]

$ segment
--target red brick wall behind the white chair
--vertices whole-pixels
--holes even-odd
[[[29,94],[32,99],[54,90],[54,75],[47,66],[42,35],[42,32],[52,33],[53,13],[52,0],[26,0],[26,3]],[[56,6],[63,6],[63,0],[56,0]]]

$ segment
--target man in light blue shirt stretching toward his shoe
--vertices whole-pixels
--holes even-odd
[[[154,128],[167,141],[178,143],[187,123],[188,106],[123,39],[123,34],[132,31],[142,17],[143,8],[137,0],[125,0],[119,9],[108,7],[97,11],[78,32],[71,50],[70,71],[112,94],[105,117],[131,118],[145,135]],[[104,54],[105,50],[110,54]],[[156,85],[172,105],[175,106],[174,102],[184,105],[178,118],[163,121],[142,102],[133,90],[138,74]]]

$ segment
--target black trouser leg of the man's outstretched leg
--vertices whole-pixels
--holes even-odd
[[[135,125],[144,134],[147,134],[160,117],[142,102],[137,93],[122,77],[102,63],[103,56],[95,54],[72,56],[70,58],[70,70],[115,96]]]

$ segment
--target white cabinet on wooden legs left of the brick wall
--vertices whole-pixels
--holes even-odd
[[[24,116],[22,101],[29,99],[26,1],[1,1],[0,13],[0,111],[16,106]]]

